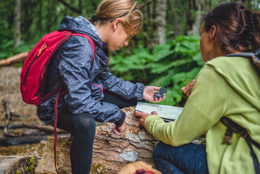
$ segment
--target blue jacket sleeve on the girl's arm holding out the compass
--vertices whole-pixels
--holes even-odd
[[[124,81],[121,78],[113,76],[109,73],[109,67],[98,75],[99,80],[103,85],[103,89],[120,95],[126,99],[136,98],[141,100],[144,98],[145,85],[142,83],[133,84],[128,81]]]

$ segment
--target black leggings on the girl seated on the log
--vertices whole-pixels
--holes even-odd
[[[146,100],[127,100],[111,92],[104,91],[101,102],[117,105],[120,109],[136,106],[137,102]],[[70,147],[70,162],[73,174],[90,173],[92,149],[95,136],[95,119],[89,113],[72,114],[64,108],[58,114],[57,128],[70,132],[73,137]]]

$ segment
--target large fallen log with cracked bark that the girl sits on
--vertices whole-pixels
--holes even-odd
[[[140,118],[134,115],[134,107],[123,108],[126,113],[126,131],[122,136],[111,133],[113,123],[96,127],[93,143],[91,173],[117,173],[123,166],[135,161],[144,161],[153,165],[152,151],[158,141],[141,126]],[[59,173],[72,173],[70,166],[70,145],[73,137],[57,140],[56,165]],[[193,141],[205,144],[205,136]],[[53,152],[54,138],[41,141],[37,152],[42,157],[38,160],[35,174],[54,174]],[[88,148],[88,147],[86,147]]]

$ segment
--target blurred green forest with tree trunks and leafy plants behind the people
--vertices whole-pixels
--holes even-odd
[[[55,31],[66,15],[86,18],[100,0],[4,0],[0,3],[0,59],[30,51],[43,35]],[[168,86],[160,104],[183,106],[181,91],[204,65],[199,51],[202,17],[223,0],[143,0],[141,32],[127,47],[110,52],[110,72],[133,83]],[[260,0],[238,1],[251,10]],[[22,66],[22,63],[16,64]]]

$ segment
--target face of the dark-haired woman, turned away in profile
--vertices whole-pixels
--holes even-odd
[[[216,47],[214,46],[213,40],[211,39],[212,30],[206,31],[204,24],[200,29],[200,42],[199,48],[202,55],[202,61],[206,63],[207,61],[217,57]]]

